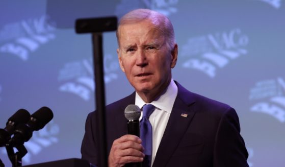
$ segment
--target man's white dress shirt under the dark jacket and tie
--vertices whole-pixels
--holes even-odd
[[[154,111],[149,116],[149,122],[152,126],[152,157],[151,157],[151,166],[153,164],[154,158],[156,158],[156,154],[160,145],[160,141],[162,139],[164,130],[166,128],[167,122],[169,120],[169,116],[171,110],[174,105],[174,101],[177,97],[178,88],[174,83],[173,79],[171,79],[170,84],[167,87],[167,90],[162,96],[151,103],[146,103],[142,100],[139,94],[136,92],[136,102],[135,104],[142,108],[145,104],[152,104],[156,107]],[[142,115],[140,120],[142,119]]]

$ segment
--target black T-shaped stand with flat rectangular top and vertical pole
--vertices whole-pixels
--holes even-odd
[[[75,22],[76,33],[92,33],[93,43],[93,65],[95,79],[95,103],[98,117],[96,120],[96,143],[98,166],[108,166],[108,155],[106,145],[106,118],[105,118],[105,82],[103,71],[103,46],[102,33],[117,30],[116,17],[77,19]]]

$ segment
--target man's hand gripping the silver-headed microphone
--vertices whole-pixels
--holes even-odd
[[[109,158],[109,166],[124,166],[130,162],[142,162],[144,148],[142,140],[135,135],[126,134],[114,140]]]

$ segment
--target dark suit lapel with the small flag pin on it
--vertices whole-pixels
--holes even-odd
[[[180,84],[176,84],[178,94],[154,159],[153,167],[166,166],[195,115],[195,110],[191,107],[191,104],[195,102],[191,92]]]

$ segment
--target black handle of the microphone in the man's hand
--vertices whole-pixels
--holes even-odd
[[[133,134],[140,137],[140,121],[139,120],[128,120],[127,121],[127,133]],[[127,163],[126,167],[141,167],[141,162]]]

